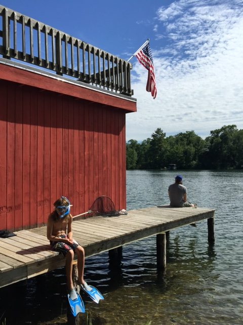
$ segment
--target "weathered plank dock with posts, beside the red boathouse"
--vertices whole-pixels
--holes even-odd
[[[158,206],[131,210],[128,215],[81,219],[72,223],[73,238],[85,248],[87,257],[157,235],[158,266],[165,268],[165,233],[208,219],[208,239],[214,241],[214,212],[206,208]],[[0,287],[65,265],[65,258],[50,250],[46,226],[15,234],[0,238]]]

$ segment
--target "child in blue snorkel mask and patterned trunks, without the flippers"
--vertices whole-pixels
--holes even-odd
[[[77,299],[76,291],[72,282],[72,264],[74,252],[77,254],[78,282],[87,291],[92,288],[84,280],[85,250],[72,238],[72,215],[70,202],[61,197],[54,203],[54,211],[48,217],[47,238],[53,250],[66,256],[67,287],[70,298]]]

